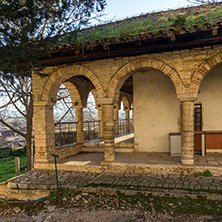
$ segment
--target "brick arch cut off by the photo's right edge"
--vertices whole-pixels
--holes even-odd
[[[191,77],[190,88],[197,94],[200,84],[204,77],[209,73],[210,70],[215,68],[222,62],[222,52],[214,54],[208,59],[205,59],[193,73]]]

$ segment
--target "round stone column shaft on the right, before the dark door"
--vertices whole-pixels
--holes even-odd
[[[194,164],[194,102],[182,101],[181,119],[181,163]]]

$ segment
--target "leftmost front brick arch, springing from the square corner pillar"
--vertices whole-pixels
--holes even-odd
[[[59,86],[69,78],[76,75],[83,75],[87,77],[94,85],[98,97],[104,96],[103,86],[96,74],[81,65],[70,65],[59,67],[51,72],[42,89],[41,99],[46,101],[54,99],[56,97]]]

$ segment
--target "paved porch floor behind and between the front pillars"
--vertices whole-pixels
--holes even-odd
[[[117,163],[134,164],[170,164],[179,165],[180,156],[171,156],[168,153],[116,153]],[[222,153],[209,153],[206,156],[194,155],[197,166],[222,166]],[[99,166],[104,160],[103,153],[80,153],[59,163],[70,165],[94,165]]]

